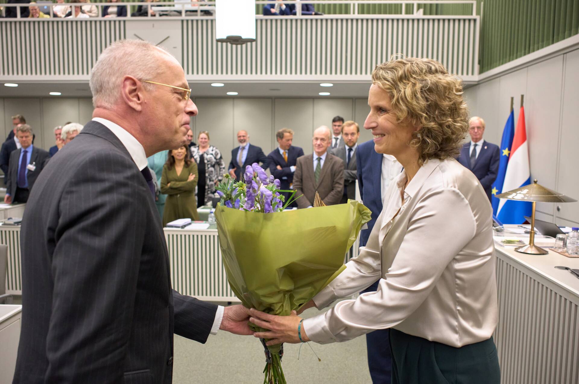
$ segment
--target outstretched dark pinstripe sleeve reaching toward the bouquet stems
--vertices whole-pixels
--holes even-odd
[[[217,304],[184,296],[173,290],[173,308],[175,311],[174,332],[179,336],[204,344],[215,321]]]

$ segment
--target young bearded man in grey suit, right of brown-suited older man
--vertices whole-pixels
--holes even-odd
[[[360,138],[360,125],[356,121],[346,121],[342,125],[342,137],[345,145],[334,149],[334,156],[338,156],[344,162],[344,195],[342,204],[348,202],[348,199],[356,198],[356,149],[358,147],[358,138]]]

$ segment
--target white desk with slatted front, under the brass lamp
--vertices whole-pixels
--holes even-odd
[[[579,259],[496,246],[501,382],[579,383]]]

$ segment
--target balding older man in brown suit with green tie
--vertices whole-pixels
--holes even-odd
[[[314,153],[298,157],[294,173],[298,208],[310,208],[316,191],[325,205],[339,204],[344,190],[344,163],[328,153],[330,131],[325,125],[314,131]],[[301,196],[301,197],[299,197]]]

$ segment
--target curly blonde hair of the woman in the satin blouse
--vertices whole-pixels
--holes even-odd
[[[419,165],[429,158],[458,156],[468,132],[468,108],[461,81],[436,60],[393,59],[376,65],[372,84],[390,95],[398,123],[420,127],[408,143],[417,147]]]

